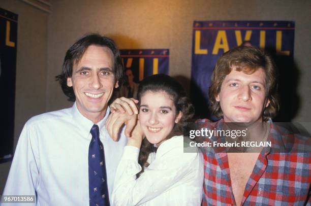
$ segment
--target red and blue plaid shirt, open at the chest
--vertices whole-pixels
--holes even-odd
[[[222,123],[223,120],[209,122],[204,127],[220,129]],[[270,125],[269,138],[271,142],[277,142],[281,131]],[[235,205],[227,153],[216,153],[211,149],[203,156],[202,205]],[[273,152],[270,148],[264,148],[246,183],[241,205],[311,205],[310,165],[309,152]]]

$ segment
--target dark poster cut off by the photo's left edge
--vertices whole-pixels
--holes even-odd
[[[0,163],[12,160],[18,15],[0,8]]]

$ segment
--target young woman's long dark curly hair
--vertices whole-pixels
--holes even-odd
[[[181,84],[168,75],[152,75],[145,78],[139,85],[137,93],[139,102],[141,102],[141,97],[146,91],[164,91],[171,97],[176,108],[176,115],[178,115],[179,112],[182,112],[182,117],[180,118],[179,122],[174,125],[173,130],[167,136],[166,140],[172,138],[172,136],[175,135],[182,135],[183,123],[190,121],[193,118],[194,107],[190,99],[187,97],[186,92],[184,91]],[[139,175],[144,172],[144,167],[147,167],[149,165],[147,163],[147,159],[149,154],[153,151],[153,145],[149,143],[148,140],[145,138],[142,141],[138,157],[138,163],[141,165],[142,170],[140,171],[140,173],[137,174],[137,177],[139,177]]]

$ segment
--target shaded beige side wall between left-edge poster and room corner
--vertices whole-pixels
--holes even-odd
[[[14,125],[16,145],[27,119],[46,109],[48,15],[18,0],[1,0],[0,7],[18,14]],[[0,164],[0,194],[10,165]]]

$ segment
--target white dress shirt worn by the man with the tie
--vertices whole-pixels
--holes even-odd
[[[97,125],[111,201],[116,168],[127,139],[122,131],[120,140],[112,141],[105,128],[108,115],[109,108]],[[76,104],[29,119],[20,134],[3,195],[36,195],[34,205],[89,205],[88,147],[93,125]]]

